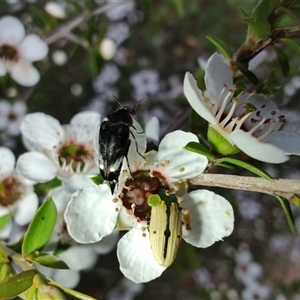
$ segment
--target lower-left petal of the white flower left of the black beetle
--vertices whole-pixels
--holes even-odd
[[[17,169],[23,177],[34,182],[50,181],[58,171],[54,162],[40,152],[28,152],[20,155]]]

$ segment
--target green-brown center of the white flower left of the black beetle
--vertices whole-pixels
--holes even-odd
[[[70,172],[84,172],[93,164],[93,153],[85,145],[68,142],[58,151],[58,161],[63,169]]]

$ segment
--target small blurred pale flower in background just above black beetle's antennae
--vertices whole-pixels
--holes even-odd
[[[160,89],[159,74],[156,70],[143,69],[130,77],[130,83],[134,87],[135,99],[152,96]]]

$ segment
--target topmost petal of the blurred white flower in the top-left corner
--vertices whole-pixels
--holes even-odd
[[[0,20],[0,43],[16,45],[25,37],[25,28],[21,21],[13,16]]]

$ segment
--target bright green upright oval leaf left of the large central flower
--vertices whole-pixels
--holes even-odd
[[[22,254],[28,255],[42,250],[49,241],[57,217],[56,206],[52,199],[46,200],[38,209],[24,236]]]

